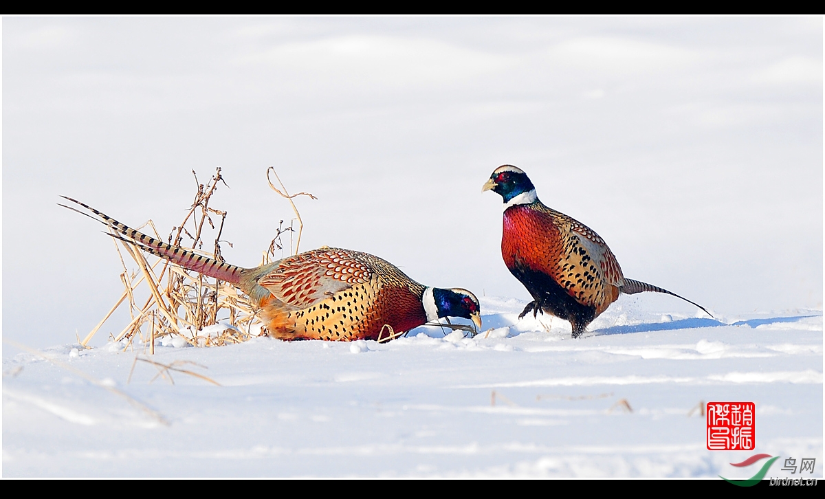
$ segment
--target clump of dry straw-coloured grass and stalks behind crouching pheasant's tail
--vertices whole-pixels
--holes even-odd
[[[227,212],[214,208],[211,203],[218,186],[221,183],[226,185],[226,182],[220,168],[205,183],[198,181],[194,171],[192,174],[196,181],[194,200],[186,216],[172,228],[168,237],[161,237],[151,220],[137,229],[158,240],[224,261],[221,244],[232,246],[231,242],[221,239]],[[290,200],[300,220],[298,209],[291,200],[295,195],[285,195],[280,191],[279,194]],[[266,252],[263,252],[262,263],[274,260],[277,250],[283,251],[285,245],[281,236],[287,232],[290,236],[294,232],[292,224],[284,227],[284,221],[281,220],[276,237],[272,239]],[[114,231],[112,233],[115,235]],[[207,238],[207,233],[212,235]],[[207,243],[207,240],[212,242]],[[87,346],[115,310],[123,306],[129,309],[130,322],[111,337],[115,341],[125,342],[124,351],[129,348],[134,350],[136,339],[143,345],[144,353],[153,354],[154,343],[159,338],[163,338],[164,344],[167,341],[181,344],[181,340],[176,339],[181,338],[192,346],[223,346],[247,341],[262,333],[257,306],[234,286],[195,271],[187,271],[163,258],[150,256],[122,238],[115,236],[113,241],[123,268],[120,281],[124,290],[101,322],[80,341],[82,346]],[[205,244],[208,248],[206,250]],[[297,251],[296,244],[295,252]],[[132,264],[136,267],[130,269]]]

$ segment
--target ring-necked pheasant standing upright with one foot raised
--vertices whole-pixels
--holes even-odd
[[[521,168],[502,165],[482,187],[504,200],[502,257],[507,269],[521,281],[531,301],[521,312],[547,312],[570,322],[579,337],[619,294],[643,291],[666,293],[705,310],[678,294],[626,279],[610,248],[585,224],[548,208]],[[710,313],[705,310],[705,313]],[[711,317],[713,317],[711,315]]]

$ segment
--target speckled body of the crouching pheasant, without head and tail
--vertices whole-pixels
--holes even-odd
[[[274,337],[377,339],[382,329],[389,337],[427,322],[425,287],[368,253],[321,248],[262,270],[257,285],[270,292],[262,308]]]

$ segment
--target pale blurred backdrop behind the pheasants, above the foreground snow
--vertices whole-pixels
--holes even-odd
[[[821,17],[6,17],[2,113],[3,335],[32,346],[122,290],[59,195],[168,232],[214,167],[241,266],[292,216],[274,166],[318,196],[304,249],[527,299],[481,193],[512,163],[625,276],[723,316],[822,307]]]

